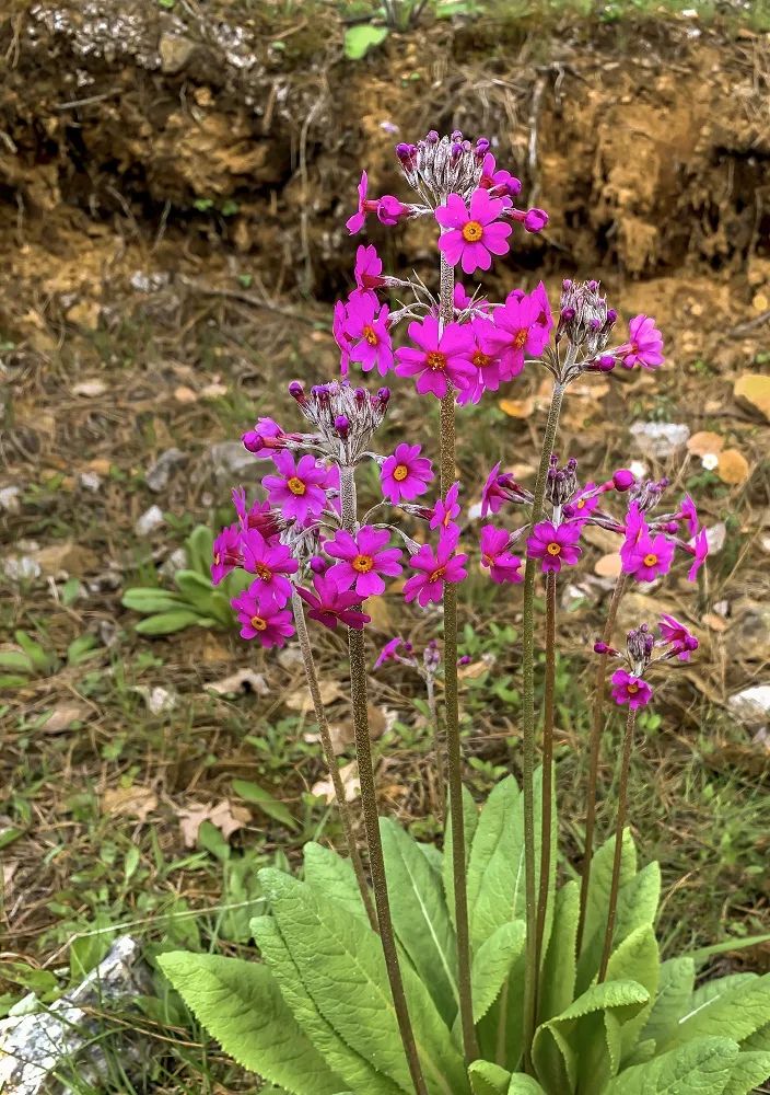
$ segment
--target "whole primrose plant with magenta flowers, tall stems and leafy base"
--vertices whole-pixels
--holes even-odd
[[[627,469],[583,476],[574,459],[562,462],[555,451],[573,381],[657,369],[661,333],[637,315],[625,341],[614,337],[618,314],[594,280],[563,281],[556,315],[542,284],[513,289],[503,301],[464,286],[458,267],[467,276],[488,270],[508,253],[514,230],[540,231],[546,214],[514,204],[521,183],[498,168],[483,138],[430,132],[396,154],[411,199],[371,197],[364,172],[348,229],[358,233],[369,217],[407,226],[428,219],[436,231],[436,281],[385,274],[373,246],[358,249],[355,288],[334,313],[341,376],[290,384],[304,428],[261,418],[244,434],[246,449],[272,466],[259,499],[234,492],[237,519],[213,548],[214,581],[233,570],[248,578],[233,600],[243,637],[268,648],[299,642],[347,856],[310,843],[302,880],[262,873],[269,914],[252,924],[261,960],[176,953],[162,956],[162,968],[229,1053],[296,1095],[745,1095],[770,1074],[770,976],[696,987],[692,955],[661,963],[660,869],[638,867],[626,827],[638,713],[653,702],[656,679],[698,642],[664,614],[612,645],[623,592],[662,578],[679,560],[696,580],[708,538],[691,498],[666,500],[666,480],[640,481]],[[552,395],[534,486],[501,471],[512,457],[501,451],[471,540],[455,476],[457,417],[540,368]],[[374,372],[412,380],[425,411],[438,404],[435,438],[378,450],[392,392],[364,385]],[[438,474],[423,447],[438,457]],[[378,472],[382,498],[363,512],[357,473],[365,464]],[[558,591],[580,566],[590,526],[617,537],[619,577],[594,647],[584,854],[575,877],[558,886]],[[522,786],[506,776],[480,811],[462,783],[458,726],[457,595],[471,557],[492,583],[521,585],[523,610]],[[374,666],[387,672],[399,661],[425,683],[436,770],[446,779],[443,853],[377,816],[365,602],[394,579],[410,612],[443,608],[442,618],[435,609],[428,616],[443,620],[443,657],[435,642],[418,656],[397,637]],[[545,681],[536,711],[540,587]],[[518,591],[510,595],[518,609]],[[363,848],[331,747],[311,624],[347,632]],[[626,730],[615,831],[595,848],[610,698],[627,712]]]

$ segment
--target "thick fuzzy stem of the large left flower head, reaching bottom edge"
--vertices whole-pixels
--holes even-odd
[[[340,500],[342,504],[342,525],[348,532],[354,534],[358,525],[358,503],[355,496],[355,473],[352,468],[340,468]],[[363,631],[348,627],[348,649],[350,652],[350,695],[353,712],[353,733],[355,736],[355,758],[358,760],[359,779],[361,781],[361,805],[363,807],[363,820],[366,831],[366,848],[369,851],[369,867],[372,874],[372,887],[374,889],[374,902],[380,923],[380,938],[411,1082],[415,1086],[416,1095],[428,1095],[428,1087],[415,1042],[415,1033],[411,1019],[409,1018],[401,968],[398,963],[398,950],[396,949],[396,936],[390,917],[390,900],[385,875],[385,856],[383,855],[380,818],[377,817],[377,793],[374,784],[372,742],[369,731],[366,647]]]

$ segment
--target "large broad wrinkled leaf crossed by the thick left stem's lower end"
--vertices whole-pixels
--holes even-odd
[[[319,1013],[380,1072],[411,1091],[378,936],[305,883],[272,868],[261,871],[259,877]],[[409,968],[401,972],[428,1091],[430,1095],[462,1095],[468,1091],[468,1081],[452,1036],[420,979]]]

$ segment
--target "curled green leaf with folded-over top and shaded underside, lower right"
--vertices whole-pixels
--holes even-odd
[[[649,1002],[634,981],[594,984],[574,1003],[538,1027],[533,1061],[552,1092],[600,1092],[620,1064],[620,1031]],[[580,1081],[580,1085],[579,1085]]]

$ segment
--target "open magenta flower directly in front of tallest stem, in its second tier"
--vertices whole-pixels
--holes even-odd
[[[396,350],[397,376],[416,377],[420,395],[432,392],[440,400],[451,383],[459,389],[468,385],[476,370],[470,362],[474,339],[467,324],[448,323],[439,337],[439,321],[427,315],[421,323],[410,323],[408,330],[419,348],[402,346]]]

